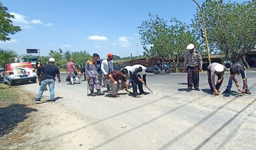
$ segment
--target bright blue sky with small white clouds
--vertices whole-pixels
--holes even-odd
[[[204,0],[197,0],[201,5]],[[227,0],[224,0],[227,1]],[[239,3],[244,0],[237,0]],[[1,0],[15,15],[22,31],[10,35],[0,47],[26,54],[26,49],[86,50],[105,58],[143,55],[138,26],[148,14],[191,23],[197,5],[192,0]],[[138,48],[137,48],[138,44]]]

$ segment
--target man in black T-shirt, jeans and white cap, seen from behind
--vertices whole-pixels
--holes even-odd
[[[49,85],[49,91],[50,91],[50,100],[54,101],[54,83],[55,83],[55,77],[57,75],[57,78],[60,82],[60,70],[56,66],[54,66],[55,59],[50,58],[49,64],[45,65],[42,70],[39,77],[39,82],[41,82],[40,89],[38,92],[37,98],[34,100],[36,103],[41,101],[41,97],[44,93],[44,89],[46,88],[46,85]]]

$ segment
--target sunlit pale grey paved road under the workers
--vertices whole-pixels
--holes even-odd
[[[152,94],[133,98],[123,90],[120,98],[111,98],[109,94],[87,97],[87,82],[67,85],[66,75],[61,74],[55,95],[63,98],[50,105],[75,112],[83,123],[70,123],[70,131],[47,137],[68,147],[73,142],[67,141],[73,139],[64,136],[71,134],[83,143],[70,149],[255,149],[256,72],[247,76],[252,95],[241,96],[234,85],[231,95],[207,95],[206,73],[200,73],[202,91],[186,92],[187,74],[172,73],[148,74]],[[221,91],[228,78],[226,73]],[[241,76],[237,79],[242,85]],[[22,86],[33,93],[39,88],[38,84]],[[43,96],[49,99],[49,92]]]

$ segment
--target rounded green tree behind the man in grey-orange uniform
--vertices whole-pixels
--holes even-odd
[[[76,51],[71,54],[70,58],[75,60],[76,65],[82,65],[84,66],[86,61],[89,60],[92,56],[87,53],[85,50],[84,51]]]

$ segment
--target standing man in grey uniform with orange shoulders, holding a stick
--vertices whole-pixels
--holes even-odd
[[[86,80],[89,82],[89,89],[91,91],[90,96],[105,95],[101,93],[99,87],[98,71],[97,71],[97,59],[99,55],[93,54],[93,58],[89,59],[85,64]],[[97,89],[97,95],[94,93],[94,85]]]

